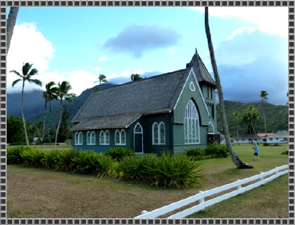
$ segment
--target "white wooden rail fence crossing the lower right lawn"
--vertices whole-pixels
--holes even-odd
[[[287,170],[284,170],[284,169],[287,169]],[[202,211],[206,207],[212,206],[213,204],[215,204],[217,202],[220,202],[222,200],[225,200],[225,199],[228,199],[230,197],[236,196],[238,194],[241,194],[243,192],[246,192],[248,190],[256,188],[256,187],[258,187],[260,185],[263,185],[264,183],[266,183],[266,182],[268,182],[270,180],[273,180],[273,179],[275,179],[275,178],[277,178],[277,177],[279,177],[279,176],[281,176],[283,174],[286,174],[286,173],[288,173],[288,165],[284,165],[284,166],[281,166],[281,167],[276,167],[276,169],[272,169],[272,170],[267,171],[267,172],[260,172],[260,174],[258,174],[258,175],[251,176],[251,177],[248,177],[248,178],[245,178],[245,179],[242,179],[242,180],[237,180],[237,181],[235,181],[233,183],[228,183],[227,185],[224,185],[224,186],[221,186],[221,187],[217,187],[217,188],[207,190],[207,191],[200,191],[199,194],[196,194],[196,195],[193,195],[191,197],[182,199],[182,200],[174,202],[172,204],[168,204],[167,206],[164,206],[162,208],[153,210],[151,212],[142,211],[141,215],[136,216],[135,218],[136,219],[138,219],[138,218],[144,218],[144,219],[145,218],[157,218],[157,217],[159,217],[161,215],[172,212],[172,211],[177,210],[177,209],[179,209],[181,207],[187,206],[187,204],[193,203],[195,201],[199,201],[199,204],[197,204],[196,206],[193,206],[193,207],[188,208],[188,209],[186,209],[184,211],[181,211],[179,213],[176,213],[176,214],[174,214],[172,216],[167,217],[169,219],[170,218],[183,218],[183,217],[191,215],[191,214],[193,214],[195,212]],[[268,178],[264,178],[264,177],[269,176],[271,174],[274,174],[274,175],[272,175],[272,176],[270,176]],[[258,182],[252,183],[251,185],[248,185],[248,186],[242,188],[242,185],[244,185],[245,183],[248,183],[248,182],[251,182],[251,181],[254,181],[254,180],[258,180],[258,179],[259,179]],[[226,190],[229,190],[229,189],[232,189],[232,188],[237,188],[237,190],[205,201],[205,197],[208,197],[208,196],[211,196],[211,195],[214,195],[214,194],[218,194],[220,192],[223,192],[223,191],[226,191]]]

